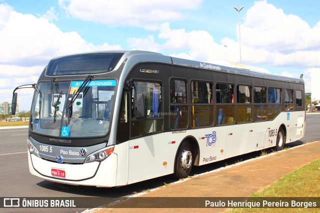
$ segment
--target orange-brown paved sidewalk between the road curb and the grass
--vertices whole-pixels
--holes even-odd
[[[216,172],[165,186],[140,197],[248,197],[317,159],[320,159],[319,141],[228,166]],[[120,204],[112,205],[110,209],[98,209],[93,213],[222,213],[229,211],[229,209],[125,209],[117,208],[118,205],[132,207],[134,199],[121,201]]]

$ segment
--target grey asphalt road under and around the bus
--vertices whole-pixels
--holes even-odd
[[[320,125],[320,113],[306,115],[305,136],[286,147],[294,147],[303,143],[320,139],[318,127]],[[143,192],[148,189],[163,186],[164,183],[172,183],[170,176],[164,176],[120,188],[96,188],[85,186],[71,186],[44,181],[29,174],[26,152],[27,128],[3,129],[0,128],[0,197],[102,197],[105,198],[100,205],[118,200],[118,197],[131,195],[135,192]],[[244,161],[259,156],[260,152],[241,155],[214,164],[194,167],[192,174],[201,174],[225,165],[231,165],[238,161]],[[42,211],[43,210],[43,211]],[[51,211],[52,210],[52,211]],[[37,209],[37,212],[77,212],[84,209]],[[0,212],[12,212],[0,209]],[[17,212],[29,212],[19,209]],[[14,211],[13,211],[14,212]]]

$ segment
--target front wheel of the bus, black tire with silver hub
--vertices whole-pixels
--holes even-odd
[[[173,177],[176,179],[186,178],[190,175],[193,165],[192,146],[183,141],[175,157]]]

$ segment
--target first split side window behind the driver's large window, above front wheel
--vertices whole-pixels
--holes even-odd
[[[170,128],[185,129],[188,127],[188,106],[186,105],[186,82],[170,80]]]

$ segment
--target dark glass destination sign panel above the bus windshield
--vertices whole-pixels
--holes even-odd
[[[49,62],[46,75],[94,74],[111,71],[123,53],[78,54],[54,58]]]

